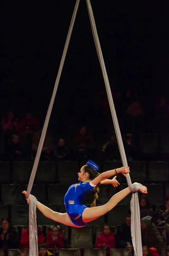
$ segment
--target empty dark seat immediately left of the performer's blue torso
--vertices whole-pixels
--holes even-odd
[[[69,189],[69,185],[49,184],[48,204],[64,204],[64,196]]]

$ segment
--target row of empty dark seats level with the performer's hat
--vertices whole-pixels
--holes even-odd
[[[100,172],[119,168],[121,162],[100,162]],[[77,172],[85,163],[78,161],[40,162],[35,176],[35,183],[73,184],[77,183]],[[132,181],[167,182],[169,180],[169,163],[167,161],[132,161],[129,162]],[[0,162],[0,183],[28,183],[33,162]],[[160,175],[159,175],[160,173]],[[123,178],[124,180],[124,178]]]

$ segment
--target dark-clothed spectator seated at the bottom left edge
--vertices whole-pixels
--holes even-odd
[[[0,228],[0,249],[17,249],[19,247],[19,239],[17,232],[10,226],[9,220],[3,218]]]

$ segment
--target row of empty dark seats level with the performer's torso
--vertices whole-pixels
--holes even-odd
[[[118,177],[117,177],[118,179]],[[146,184],[148,195],[152,204],[163,204],[166,195],[169,195],[169,183]],[[120,186],[114,188],[111,185],[101,185],[97,204],[106,204],[113,195],[127,187],[126,183],[120,183]],[[42,204],[61,205],[64,203],[64,196],[69,186],[65,184],[37,184],[32,186],[32,195]],[[23,190],[27,190],[27,185],[3,184],[0,186],[0,204],[3,205],[24,205],[26,204]],[[82,204],[92,204],[93,192],[89,192]],[[131,194],[126,196],[120,204],[129,204]]]

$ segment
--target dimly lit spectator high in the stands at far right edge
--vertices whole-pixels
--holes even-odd
[[[155,116],[162,118],[169,117],[169,104],[166,102],[165,97],[160,97],[159,102],[155,108]]]

